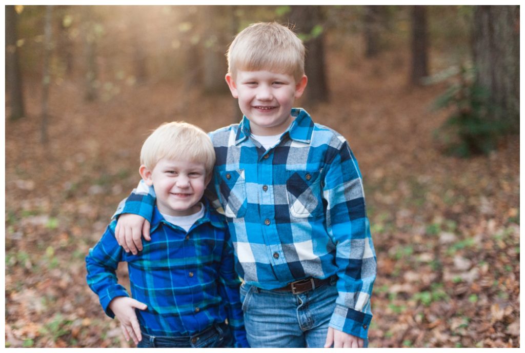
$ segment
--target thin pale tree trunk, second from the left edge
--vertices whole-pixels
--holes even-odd
[[[48,141],[47,134],[47,120],[48,120],[48,102],[49,102],[49,84],[51,75],[49,73],[49,57],[51,55],[51,15],[53,14],[53,5],[46,6],[46,17],[44,24],[44,63],[42,75],[42,124],[40,129],[40,141],[46,143]]]

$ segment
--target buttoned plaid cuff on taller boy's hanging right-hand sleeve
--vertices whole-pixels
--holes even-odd
[[[370,314],[336,305],[329,326],[344,333],[367,339],[370,321],[372,321]]]

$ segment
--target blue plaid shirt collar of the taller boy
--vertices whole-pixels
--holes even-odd
[[[288,129],[284,132],[289,134],[290,138],[295,141],[310,143],[313,131],[313,121],[308,112],[302,108],[292,108],[291,115],[296,117]],[[235,137],[235,144],[243,142],[250,136],[250,121],[243,116]],[[283,133],[283,134],[284,134]]]

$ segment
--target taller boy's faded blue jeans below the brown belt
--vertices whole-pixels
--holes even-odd
[[[302,294],[243,283],[244,325],[251,347],[324,347],[338,291],[335,279]]]

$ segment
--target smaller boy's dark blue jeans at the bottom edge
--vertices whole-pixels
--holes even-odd
[[[212,327],[192,336],[150,336],[142,333],[138,348],[233,348],[232,331],[226,324]]]

